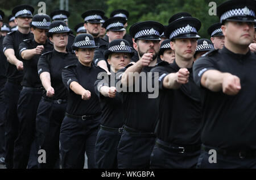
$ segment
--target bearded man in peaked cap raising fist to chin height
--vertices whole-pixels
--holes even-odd
[[[143,91],[148,73],[156,65],[159,52],[160,35],[164,26],[158,22],[146,21],[130,27],[134,38],[134,49],[138,51],[139,61],[119,70],[117,84],[125,88],[121,92],[125,112],[125,126],[118,145],[118,168],[149,168],[150,154],[155,144],[155,126],[158,121],[157,98],[149,98],[148,90]],[[129,74],[141,74],[133,82]],[[143,81],[143,82],[142,82]],[[129,88],[139,85],[139,92],[129,92]],[[126,89],[127,87],[127,89]],[[135,88],[134,88],[135,89]],[[126,91],[126,92],[125,92]],[[154,95],[153,95],[154,96]],[[131,108],[132,107],[132,108]],[[150,112],[150,113],[148,113]]]

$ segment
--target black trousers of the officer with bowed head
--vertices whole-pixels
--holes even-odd
[[[27,168],[30,152],[32,161],[30,163],[34,165],[30,168],[37,168],[38,166],[38,148],[32,143],[35,141],[36,112],[41,97],[42,90],[40,89],[22,89],[20,91],[18,102],[19,135],[14,146],[14,168]]]

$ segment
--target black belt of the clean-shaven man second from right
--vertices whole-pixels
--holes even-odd
[[[167,142],[164,142],[162,140],[157,139],[156,140],[156,146],[158,146],[159,148],[162,148],[164,150],[167,150],[169,152],[175,152],[175,153],[193,153],[196,152],[198,150],[200,150],[201,145],[196,144],[196,145],[177,145],[177,144],[170,144]]]

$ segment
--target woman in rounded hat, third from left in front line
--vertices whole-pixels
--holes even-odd
[[[76,57],[67,51],[69,33],[65,22],[52,22],[47,36],[54,49],[44,53],[38,61],[38,74],[45,91],[36,115],[36,134],[40,149],[46,151],[46,163],[39,164],[39,168],[53,168],[59,158],[60,126],[68,95],[61,81],[61,70],[77,62]]]

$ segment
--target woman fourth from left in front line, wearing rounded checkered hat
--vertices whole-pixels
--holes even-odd
[[[92,35],[77,36],[73,49],[79,61],[62,71],[63,83],[69,91],[66,115],[60,131],[63,168],[84,168],[85,152],[88,168],[96,168],[95,142],[101,108],[94,91],[94,82],[98,74],[104,72],[92,63],[96,47]]]

